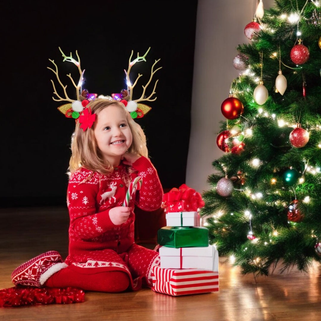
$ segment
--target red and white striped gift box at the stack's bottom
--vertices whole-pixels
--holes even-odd
[[[173,296],[219,291],[219,273],[201,269],[164,269],[153,266],[154,292]]]

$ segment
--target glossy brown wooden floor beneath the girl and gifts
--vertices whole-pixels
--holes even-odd
[[[64,207],[0,210],[0,289],[13,287],[11,272],[48,250],[67,255]],[[148,247],[146,245],[146,247]],[[218,292],[172,297],[144,288],[118,294],[86,292],[85,302],[0,308],[0,320],[320,321],[321,266],[268,277],[243,276],[220,257]]]

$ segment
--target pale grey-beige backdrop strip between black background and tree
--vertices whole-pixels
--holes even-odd
[[[198,0],[186,184],[199,193],[210,188],[213,160],[222,152],[216,144],[223,100],[239,71],[233,66],[236,47],[249,43],[245,26],[252,21],[257,0]],[[264,8],[274,4],[263,0]],[[263,18],[264,20],[264,18]]]

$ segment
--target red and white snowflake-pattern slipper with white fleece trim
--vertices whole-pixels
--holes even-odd
[[[41,287],[48,278],[67,267],[57,251],[48,251],[19,265],[11,274],[14,285]]]

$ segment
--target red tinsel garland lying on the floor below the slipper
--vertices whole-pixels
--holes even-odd
[[[84,302],[85,292],[78,288],[35,288],[15,286],[0,290],[0,308],[37,304],[69,304]]]

